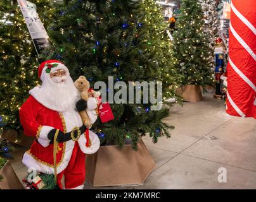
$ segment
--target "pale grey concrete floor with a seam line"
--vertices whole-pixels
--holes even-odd
[[[176,127],[171,138],[143,139],[157,163],[144,184],[108,189],[256,189],[255,119],[228,116],[223,100],[205,95],[202,102],[175,105],[165,121]],[[24,151],[11,161],[20,179]],[[219,168],[227,182],[218,182]],[[87,182],[85,188],[94,189]]]

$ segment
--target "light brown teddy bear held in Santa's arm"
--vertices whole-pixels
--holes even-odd
[[[90,83],[89,83],[89,81],[87,81],[86,76],[79,76],[79,78],[74,82],[74,84],[75,84],[75,87],[77,88],[77,90],[79,90],[79,92],[81,93],[82,100],[85,100],[86,102],[89,97],[98,98],[101,95],[100,92],[96,92],[96,91],[90,89]],[[92,124],[91,124],[91,121],[89,119],[89,116],[88,116],[86,110],[82,110],[79,113],[80,113],[80,116],[82,118],[82,122],[84,123],[84,125],[88,129],[90,129]]]

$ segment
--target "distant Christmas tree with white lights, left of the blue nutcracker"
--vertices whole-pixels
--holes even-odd
[[[183,75],[182,85],[212,85],[212,49],[204,29],[202,5],[184,0],[174,32],[174,66]]]

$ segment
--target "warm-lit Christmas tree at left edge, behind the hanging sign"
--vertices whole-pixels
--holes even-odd
[[[30,0],[37,5],[42,23],[51,19],[50,0]],[[0,115],[4,129],[20,128],[18,111],[37,80],[37,54],[16,0],[0,1]]]

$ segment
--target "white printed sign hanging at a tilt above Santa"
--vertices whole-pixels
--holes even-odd
[[[18,4],[20,5],[22,15],[25,19],[27,28],[29,29],[35,50],[37,51],[37,54],[41,54],[42,50],[49,47],[49,36],[37,14],[36,6],[34,3],[25,0],[18,0]]]

